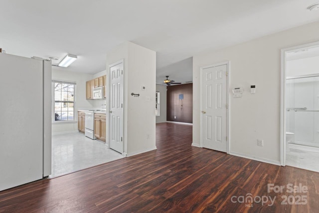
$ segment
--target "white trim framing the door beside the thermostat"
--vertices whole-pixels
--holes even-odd
[[[230,61],[224,61],[224,62],[220,62],[220,63],[215,63],[215,64],[211,64],[208,66],[202,66],[200,67],[200,90],[199,90],[199,113],[203,110],[203,106],[202,106],[202,102],[203,102],[203,89],[202,89],[202,79],[203,79],[203,69],[205,68],[209,68],[209,67],[216,67],[216,66],[221,66],[221,65],[227,65],[227,105],[228,105],[228,109],[227,109],[227,113],[226,113],[226,122],[227,122],[227,129],[226,129],[226,136],[227,136],[227,141],[226,141],[226,153],[229,154],[230,152],[230,96],[229,96],[229,82],[230,82]],[[194,112],[193,112],[194,113]],[[195,112],[196,113],[196,112]],[[199,125],[199,129],[200,129],[200,139],[199,139],[199,147],[203,147],[203,138],[202,138],[202,133],[203,133],[203,128],[202,128],[202,114],[200,113],[200,125]]]

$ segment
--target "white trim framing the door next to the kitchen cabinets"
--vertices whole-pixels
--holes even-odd
[[[124,104],[124,101],[125,101],[125,99],[124,99],[124,91],[125,91],[125,89],[124,89],[124,87],[125,87],[125,85],[124,85],[124,76],[125,76],[125,67],[124,67],[124,58],[123,59],[121,59],[121,60],[119,60],[119,61],[117,61],[117,62],[115,62],[115,63],[112,63],[112,64],[110,64],[109,65],[109,67],[108,67],[108,72],[109,72],[109,76],[108,76],[108,78],[109,78],[109,111],[108,112],[106,112],[106,113],[108,113],[108,124],[109,124],[109,128],[108,128],[108,134],[109,134],[109,137],[108,137],[108,148],[111,148],[111,129],[110,129],[110,122],[111,122],[111,119],[110,119],[110,117],[111,117],[111,113],[110,113],[110,109],[111,109],[111,101],[110,101],[110,97],[111,97],[111,72],[110,72],[110,70],[111,70],[111,67],[113,67],[113,66],[116,66],[116,65],[118,65],[118,64],[121,64],[122,63],[122,66],[123,66],[123,77],[122,77],[122,80],[121,80],[121,84],[123,85],[123,89],[122,89],[122,96],[123,96],[123,108],[122,108],[122,137],[123,137],[123,147],[122,147],[122,155],[124,155],[124,142],[125,142],[125,137],[124,137],[124,108],[125,108],[125,104]],[[126,153],[125,153],[126,154]],[[125,155],[126,156],[126,155]]]

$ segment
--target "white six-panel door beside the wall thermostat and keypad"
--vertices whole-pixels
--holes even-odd
[[[227,64],[202,69],[202,145],[227,151]]]

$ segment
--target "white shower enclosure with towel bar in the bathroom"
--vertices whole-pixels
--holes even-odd
[[[286,110],[290,143],[319,148],[319,74],[287,78]]]

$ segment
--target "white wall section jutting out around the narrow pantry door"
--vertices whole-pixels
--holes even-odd
[[[124,152],[132,156],[156,149],[156,52],[132,42],[117,46],[107,54],[107,78],[108,66],[121,59],[124,59]],[[107,81],[109,93],[108,85]],[[145,91],[141,85],[146,86]],[[140,97],[131,96],[132,92],[140,93]],[[147,97],[151,100],[147,101]]]

